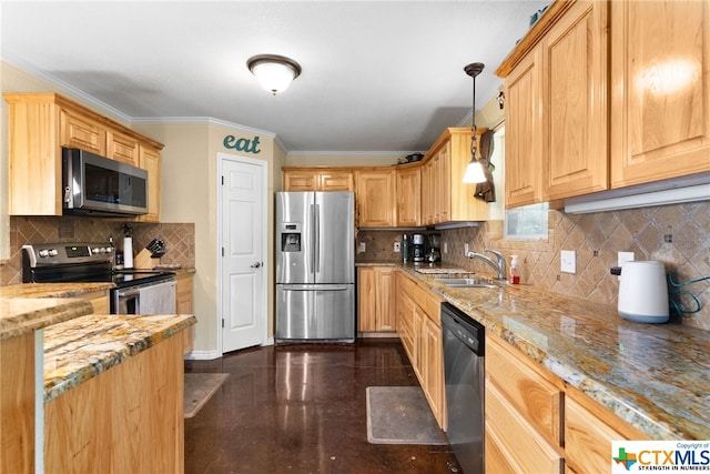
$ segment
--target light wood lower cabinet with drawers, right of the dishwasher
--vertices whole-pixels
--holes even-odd
[[[485,403],[486,472],[608,472],[612,441],[648,440],[488,331]]]

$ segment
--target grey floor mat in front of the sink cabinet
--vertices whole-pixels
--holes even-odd
[[[368,386],[367,441],[372,444],[448,444],[418,386]]]

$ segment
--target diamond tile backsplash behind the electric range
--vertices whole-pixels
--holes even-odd
[[[0,285],[22,283],[22,245],[50,242],[108,242],[113,238],[121,248],[123,228],[130,225],[133,236],[133,252],[138,254],[153,239],[165,242],[166,252],[162,264],[195,266],[195,226],[192,223],[143,223],[118,222],[93,218],[10,218],[10,259],[0,265]]]

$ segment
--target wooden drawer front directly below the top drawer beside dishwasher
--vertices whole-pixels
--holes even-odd
[[[523,466],[524,471],[520,472],[529,473],[562,472],[562,455],[526,422],[524,415],[508,403],[503,393],[491,384],[486,384],[485,400],[486,435],[496,441],[498,453],[507,453],[509,466]],[[506,441],[515,441],[515,444],[507,444]],[[489,448],[490,446],[486,446],[486,450]],[[490,454],[494,453],[495,451]],[[607,468],[608,465],[607,463]]]

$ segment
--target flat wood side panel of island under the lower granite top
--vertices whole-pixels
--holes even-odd
[[[182,337],[44,405],[47,473],[184,472]]]

